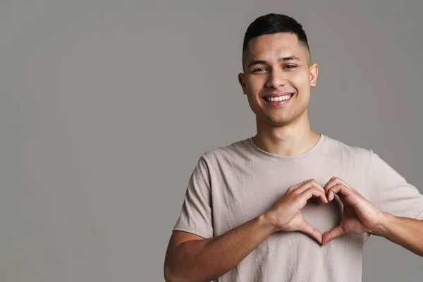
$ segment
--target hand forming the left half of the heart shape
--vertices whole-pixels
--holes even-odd
[[[314,179],[305,180],[288,188],[285,195],[266,213],[274,229],[287,232],[300,231],[321,243],[321,233],[304,220],[301,212],[307,200],[313,196],[321,203],[328,202],[324,188]]]

